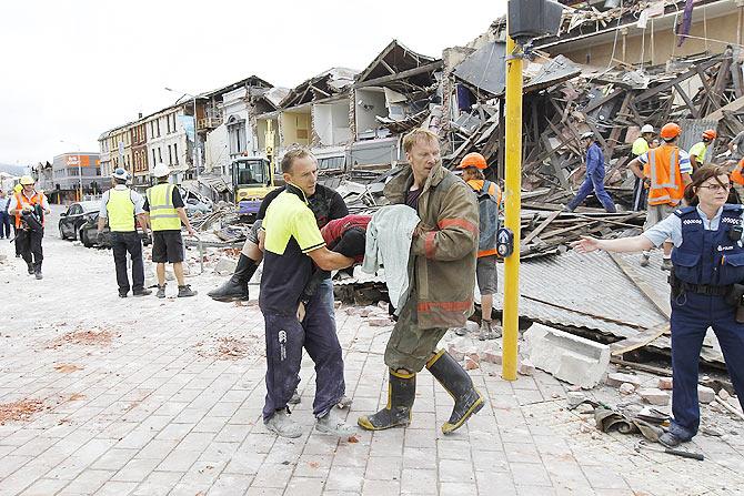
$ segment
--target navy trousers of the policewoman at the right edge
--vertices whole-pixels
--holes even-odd
[[[731,382],[744,407],[744,324],[723,296],[684,293],[672,298],[672,414],[670,432],[690,439],[700,426],[697,364],[708,327],[715,332]]]

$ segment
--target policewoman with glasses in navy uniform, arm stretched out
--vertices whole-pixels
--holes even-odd
[[[674,421],[660,442],[676,446],[690,441],[700,425],[697,363],[708,327],[718,337],[731,381],[744,406],[744,323],[736,322],[734,284],[744,283],[742,205],[726,203],[728,173],[705,165],[685,189],[686,207],[634,237],[574,243],[580,253],[594,250],[640,252],[672,239],[672,413]],[[734,300],[734,301],[732,301]],[[737,300],[737,301],[736,301]]]

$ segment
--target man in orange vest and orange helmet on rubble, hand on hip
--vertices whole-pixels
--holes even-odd
[[[664,143],[633,159],[629,168],[636,178],[643,179],[649,186],[649,206],[643,230],[647,231],[670,216],[684,196],[684,188],[690,183],[692,165],[690,156],[677,146],[682,128],[671,122],[661,130]],[[643,252],[641,266],[649,265],[651,254]],[[664,243],[662,270],[672,270],[672,242]]]

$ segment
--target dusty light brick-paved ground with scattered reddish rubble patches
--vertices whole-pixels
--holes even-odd
[[[260,418],[254,301],[211,301],[211,270],[189,277],[193,298],[119,298],[111,252],[61,241],[49,224],[43,281],[0,247],[10,255],[0,263],[1,495],[744,494],[741,422],[715,414],[715,435],[690,446],[705,462],[636,453],[639,437],[602,434],[590,415],[566,411],[566,387],[552,376],[509,383],[487,363],[471,374],[489,404],[453,435],[439,431],[451,398],[423,372],[409,428],[339,442],[312,432],[305,358],[294,412],[305,435],[277,438]],[[390,327],[348,310],[336,322],[355,422],[386,402]],[[623,401],[610,387],[586,394]],[[713,418],[704,407],[704,425]]]

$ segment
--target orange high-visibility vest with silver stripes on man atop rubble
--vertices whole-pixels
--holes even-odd
[[[643,175],[651,179],[649,188],[650,205],[676,206],[684,196],[684,183],[680,172],[680,149],[662,144],[649,150],[649,161],[643,166]]]

